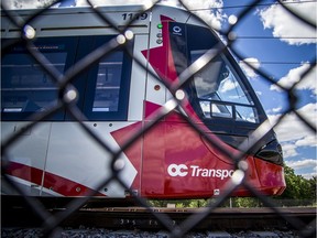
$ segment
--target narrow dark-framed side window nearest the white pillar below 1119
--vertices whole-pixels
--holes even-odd
[[[96,36],[95,48],[111,36]],[[131,46],[132,47],[132,46]],[[107,54],[89,71],[84,113],[90,120],[127,120],[132,58],[122,48]]]

